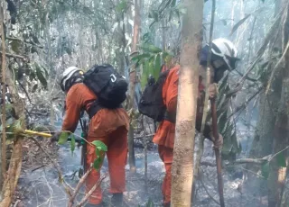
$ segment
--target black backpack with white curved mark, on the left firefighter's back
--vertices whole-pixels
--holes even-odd
[[[120,108],[126,100],[128,84],[126,77],[117,73],[117,70],[109,64],[95,65],[84,74],[83,83],[93,91],[98,99],[89,108],[89,118],[101,108]]]

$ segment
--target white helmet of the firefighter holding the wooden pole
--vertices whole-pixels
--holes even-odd
[[[239,60],[238,50],[235,45],[230,40],[224,38],[213,40],[212,43],[212,54],[223,58],[229,70],[233,70],[235,68],[236,60]]]

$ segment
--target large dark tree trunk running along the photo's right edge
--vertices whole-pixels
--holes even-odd
[[[279,153],[270,163],[270,173],[268,179],[268,206],[280,206],[284,193],[284,184],[286,180],[286,165],[288,163],[289,150],[286,148],[289,144],[289,4],[287,0],[282,1],[282,8],[285,8],[283,16],[283,25],[281,29],[280,42],[282,42],[281,52],[284,54],[284,65],[280,66],[282,75],[282,93],[277,118],[275,122],[275,140],[273,145],[273,154]],[[281,153],[280,153],[281,152]]]

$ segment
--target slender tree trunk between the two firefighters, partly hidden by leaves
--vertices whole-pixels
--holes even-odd
[[[138,42],[138,31],[140,28],[140,13],[138,0],[135,0],[135,20],[134,20],[134,39],[132,44],[132,52],[136,51],[136,45]],[[135,84],[136,84],[136,71],[135,66],[129,73],[129,110],[134,110],[135,108]],[[129,125],[128,132],[128,150],[129,150],[129,168],[131,173],[136,172],[135,168],[135,149],[134,149],[134,127],[132,124]]]

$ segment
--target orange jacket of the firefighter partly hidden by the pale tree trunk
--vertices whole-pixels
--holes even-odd
[[[179,69],[180,66],[173,67],[169,72],[164,84],[163,84],[163,103],[166,106],[168,112],[176,112],[178,101],[178,82],[179,82]],[[199,78],[200,79],[200,78]],[[200,130],[202,109],[203,105],[200,101],[200,96],[203,95],[204,85],[199,82],[199,97],[197,107],[196,129]],[[204,135],[209,138],[210,128],[205,127]],[[170,121],[162,121],[158,130],[154,135],[154,143],[163,145],[167,148],[173,148],[175,134],[175,123]]]

